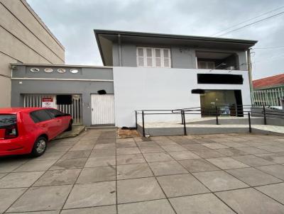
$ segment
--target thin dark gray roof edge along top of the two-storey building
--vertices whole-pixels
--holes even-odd
[[[173,39],[186,39],[186,40],[204,40],[212,42],[224,42],[224,43],[241,43],[241,44],[250,44],[255,45],[257,40],[243,40],[243,39],[234,39],[234,38],[217,38],[217,37],[204,37],[197,35],[176,35],[176,34],[165,34],[165,33],[143,33],[136,31],[123,31],[123,30],[102,30],[94,29],[94,34],[112,34],[112,35],[133,35],[133,36],[144,36],[144,37],[155,37],[155,38],[173,38]],[[97,40],[98,41],[98,40]]]

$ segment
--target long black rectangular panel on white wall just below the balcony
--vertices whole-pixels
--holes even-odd
[[[244,79],[236,74],[197,74],[198,84],[243,84]]]

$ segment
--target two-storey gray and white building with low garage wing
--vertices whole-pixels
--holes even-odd
[[[94,34],[104,67],[13,64],[11,105],[48,103],[87,126],[134,127],[135,111],[141,109],[251,104],[246,59],[255,40]]]

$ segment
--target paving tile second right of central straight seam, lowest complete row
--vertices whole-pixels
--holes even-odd
[[[209,190],[191,174],[158,176],[157,179],[168,198],[209,193]]]

